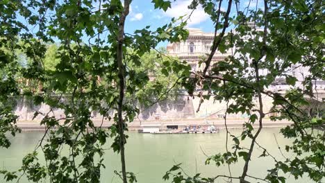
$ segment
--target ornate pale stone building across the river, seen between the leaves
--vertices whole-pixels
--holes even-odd
[[[211,52],[211,46],[213,44],[214,33],[204,33],[199,28],[188,28],[189,36],[188,40],[183,42],[176,42],[167,45],[168,55],[176,56],[180,60],[185,60],[192,67],[192,71],[203,70],[205,64],[203,63],[208,55]],[[261,29],[260,29],[261,30]],[[213,55],[213,60],[210,65],[213,63],[222,61],[228,55],[231,55],[231,49],[228,49],[226,53],[220,53],[218,51]],[[199,65],[199,61],[203,61],[201,65]],[[266,71],[267,72],[267,71]],[[263,73],[263,71],[261,71]],[[294,76],[297,78],[296,87],[302,87],[302,82],[306,76],[310,75],[309,68],[301,67],[297,65],[293,65],[292,69],[287,72],[288,75]],[[315,85],[318,85],[318,89],[325,88],[325,82],[317,81]],[[274,92],[280,92],[290,89],[291,87],[285,83],[285,78],[277,78],[274,81],[274,84],[270,86],[268,89],[273,90]]]

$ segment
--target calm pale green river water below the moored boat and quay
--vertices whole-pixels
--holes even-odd
[[[241,130],[231,130],[235,135]],[[30,153],[42,137],[42,132],[22,132],[12,138],[12,146],[8,149],[0,150],[1,168],[17,170],[22,165],[22,157]],[[135,173],[138,182],[160,183],[165,182],[163,175],[174,164],[182,163],[183,170],[189,175],[201,173],[202,176],[228,175],[228,166],[217,167],[213,162],[205,165],[206,155],[224,153],[226,131],[220,130],[217,134],[138,134],[128,133],[128,143],[126,144],[126,168],[127,171]],[[285,157],[292,155],[285,153],[284,146],[290,144],[290,139],[284,139],[279,134],[278,128],[265,128],[260,133],[258,143],[267,148],[269,153],[279,160],[284,157],[278,150],[278,145],[282,148]],[[249,141],[244,141],[244,146],[249,146]],[[229,146],[231,149],[231,147]],[[274,166],[274,161],[270,157],[258,158],[263,150],[256,148],[253,152],[252,161],[249,166],[249,175],[255,177],[265,177],[267,168]],[[112,149],[106,151],[106,168],[102,170],[102,182],[121,182],[114,171],[120,170],[119,155],[113,153]],[[242,173],[243,162],[231,165],[233,176]],[[285,175],[288,182],[312,182],[308,178],[294,180],[290,175]],[[2,180],[0,180],[2,182]],[[4,182],[4,181],[3,181]],[[22,179],[22,183],[28,182]],[[45,181],[47,182],[47,181]],[[171,180],[167,182],[172,182]],[[222,178],[216,182],[226,182]],[[252,182],[257,182],[253,180]]]

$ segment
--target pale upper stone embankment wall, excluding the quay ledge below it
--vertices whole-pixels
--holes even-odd
[[[270,98],[263,98],[265,101],[265,111],[268,111],[272,107],[272,101]],[[156,103],[150,107],[140,107],[140,114],[135,120],[139,121],[156,121],[156,120],[177,120],[177,119],[223,119],[226,111],[226,103],[219,101],[205,100],[197,112],[199,107],[199,97],[180,96],[175,101],[162,101]],[[15,103],[15,114],[19,116],[19,121],[40,121],[42,115],[38,115],[33,120],[34,112],[38,111],[43,114],[47,114],[50,111],[48,105],[33,105],[33,102],[26,98],[19,98],[12,103]],[[57,119],[64,118],[65,114],[63,110],[53,109],[49,115],[55,116]],[[247,114],[227,114],[231,119],[247,119]],[[93,112],[92,119],[94,121],[101,121],[102,116]]]

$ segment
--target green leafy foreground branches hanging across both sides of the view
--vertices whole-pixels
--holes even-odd
[[[152,3],[162,10],[171,8],[170,1]],[[186,22],[192,14],[176,17],[156,30],[146,26],[128,34],[124,27],[128,26],[130,4],[130,0],[0,2],[0,146],[8,148],[8,136],[19,132],[10,98],[31,98],[35,105],[51,107],[47,113],[35,111],[35,116],[43,116],[44,136],[35,151],[24,157],[19,171],[0,171],[5,180],[25,176],[31,182],[46,178],[51,182],[100,182],[104,149],[111,146],[121,158],[122,170],[116,173],[124,183],[135,182],[124,155],[128,138],[124,131],[139,112],[134,102],[150,105],[171,97],[173,88],[180,87],[188,89],[190,95],[200,87],[201,103],[210,96],[226,101],[226,114],[250,115],[240,137],[227,129],[226,152],[206,161],[231,166],[242,159],[244,166],[240,175],[229,171],[228,175],[191,177],[178,164],[167,171],[165,180],[285,182],[285,173],[297,179],[305,173],[315,182],[324,180],[324,109],[306,110],[311,101],[319,101],[313,81],[325,79],[323,1],[264,0],[252,7],[238,0],[193,0],[188,8],[203,8],[214,23],[215,37],[210,54],[201,61],[204,69],[192,73],[187,64],[164,51],[153,52],[159,42],[185,40]],[[211,62],[217,51],[228,49],[232,54],[226,60]],[[303,87],[297,87],[297,78],[288,74],[299,66],[310,71],[301,82]],[[153,76],[156,79],[149,80]],[[281,77],[292,89],[285,94],[267,90]],[[281,133],[293,139],[285,150],[297,156],[280,161],[257,142],[267,114],[263,96],[272,98],[270,112],[280,114],[273,120],[293,122]],[[54,108],[62,109],[65,117],[55,118]],[[92,112],[114,121],[113,125],[109,129],[94,125]],[[253,123],[259,128],[253,129]],[[315,132],[317,128],[323,131]],[[108,138],[113,141],[108,142]],[[241,143],[245,139],[250,141],[248,147]],[[274,158],[274,167],[269,167],[266,177],[248,174],[256,146],[263,149],[260,157]],[[60,153],[63,148],[69,149],[69,155]],[[46,164],[38,160],[40,156]]]

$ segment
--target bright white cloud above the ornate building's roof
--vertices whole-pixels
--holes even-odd
[[[164,14],[167,17],[181,17],[183,15],[190,15],[192,10],[188,9],[188,6],[192,0],[185,0],[185,1],[176,1],[175,3],[172,3],[172,8],[169,8]],[[188,26],[193,26],[196,24],[200,24],[203,21],[206,21],[208,19],[208,15],[206,12],[204,12],[203,8],[201,6],[197,7],[196,10],[192,13],[190,19],[188,20]]]

